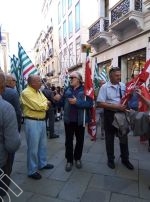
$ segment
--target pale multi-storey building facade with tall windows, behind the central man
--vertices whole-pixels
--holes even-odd
[[[97,6],[97,0],[88,4],[87,0],[44,1],[44,27],[35,44],[36,63],[51,83],[63,85],[61,75],[67,71],[84,72],[81,46],[87,44],[88,28],[98,18]]]

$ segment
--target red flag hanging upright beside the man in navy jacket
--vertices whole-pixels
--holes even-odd
[[[92,81],[92,72],[90,68],[90,61],[87,54],[86,67],[85,67],[85,83],[84,83],[84,94],[94,100],[94,88]],[[91,140],[96,140],[96,112],[95,106],[90,109],[91,120],[88,123],[88,133],[91,136]]]

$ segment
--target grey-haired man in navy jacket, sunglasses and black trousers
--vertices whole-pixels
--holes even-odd
[[[64,93],[64,125],[65,125],[65,157],[66,171],[72,170],[73,161],[78,169],[82,167],[81,156],[84,144],[84,113],[85,122],[88,122],[89,108],[92,107],[91,98],[84,96],[82,76],[79,72],[70,74],[70,86]],[[76,137],[73,148],[74,135]]]

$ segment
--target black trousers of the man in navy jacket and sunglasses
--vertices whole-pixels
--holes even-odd
[[[84,144],[84,131],[85,127],[82,125],[78,126],[77,123],[65,123],[65,157],[67,162],[73,163],[73,159],[75,161],[81,159]],[[75,148],[73,148],[74,135],[76,137]]]

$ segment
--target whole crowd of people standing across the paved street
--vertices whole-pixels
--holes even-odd
[[[106,143],[108,167],[115,169],[114,138],[117,136],[122,164],[133,170],[134,166],[129,161],[128,135],[118,136],[118,130],[113,125],[115,113],[130,108],[129,105],[121,104],[126,87],[120,81],[121,70],[116,67],[110,69],[108,82],[101,80],[99,83],[99,92],[95,98],[97,132],[100,127],[101,139],[105,139]],[[59,138],[54,127],[59,114],[59,118],[63,116],[65,130],[65,170],[70,172],[74,163],[76,168],[81,169],[85,125],[91,119],[90,108],[93,106],[92,98],[86,96],[85,99],[82,75],[77,71],[72,72],[70,85],[63,90],[42,80],[39,75],[30,75],[27,82],[27,87],[19,96],[15,78],[0,73],[0,168],[10,176],[15,152],[21,144],[19,133],[23,116],[28,177],[40,180],[42,175],[39,170],[53,169],[54,165],[47,161],[47,138]],[[136,89],[135,93],[150,107],[150,101],[140,89]],[[9,186],[10,181],[5,183]],[[3,188],[0,189],[0,196],[3,197],[8,188],[1,184],[0,187]]]

